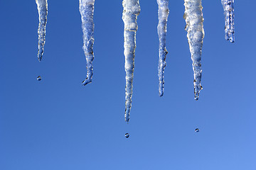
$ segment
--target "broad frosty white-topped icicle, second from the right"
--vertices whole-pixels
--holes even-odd
[[[203,47],[203,7],[201,0],[185,0],[185,13],[184,19],[186,20],[186,28],[188,31],[187,38],[189,49],[191,52],[191,59],[193,61],[193,72],[194,72],[194,93],[195,100],[198,100],[199,93],[202,89],[201,86],[201,54]]]

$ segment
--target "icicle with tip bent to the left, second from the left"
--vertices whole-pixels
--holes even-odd
[[[82,20],[82,38],[83,46],[82,49],[85,52],[87,77],[82,81],[82,85],[86,85],[92,82],[92,60],[93,55],[93,44],[94,44],[94,23],[93,23],[93,13],[94,13],[95,0],[79,0],[79,11]]]

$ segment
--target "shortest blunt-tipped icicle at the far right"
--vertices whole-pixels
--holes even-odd
[[[225,15],[225,39],[235,42],[234,0],[221,0]]]

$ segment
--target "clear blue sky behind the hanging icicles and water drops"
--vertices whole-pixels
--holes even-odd
[[[169,2],[161,98],[158,6],[156,0],[140,5],[127,125],[122,1],[95,2],[94,74],[92,84],[82,86],[86,66],[78,0],[48,1],[42,62],[36,2],[0,0],[1,170],[256,169],[256,2],[235,1],[231,44],[224,38],[220,0],[203,1],[198,101],[183,1]]]

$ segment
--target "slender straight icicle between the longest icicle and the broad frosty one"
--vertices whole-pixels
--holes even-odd
[[[159,35],[159,96],[164,95],[164,68],[166,67],[166,27],[167,18],[169,16],[169,0],[157,0],[159,5],[159,24],[157,26],[157,32]]]

